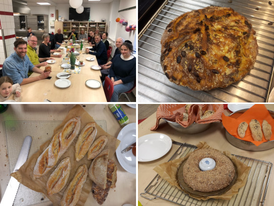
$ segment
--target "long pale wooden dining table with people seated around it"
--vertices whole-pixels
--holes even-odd
[[[70,47],[68,48],[69,50],[71,48],[78,50],[80,54],[76,57],[78,57],[79,60],[76,61],[83,61],[85,65],[75,65],[75,70],[65,70],[61,65],[63,58],[67,56],[68,51],[66,54],[63,54],[61,49],[61,52],[53,53],[62,54],[62,57],[56,57],[54,58],[55,61],[52,63],[49,61],[47,64],[51,66],[51,73],[49,75],[51,79],[44,79],[21,85],[22,102],[46,102],[47,100],[50,102],[107,102],[102,84],[99,88],[91,88],[86,85],[87,80],[96,80],[101,82],[100,70],[91,69],[92,65],[98,65],[96,57],[80,51],[80,44],[73,46],[70,45],[68,41],[67,43],[65,42],[62,44],[61,47],[65,46]],[[84,48],[86,46],[89,45],[85,43]],[[94,61],[87,60],[90,58],[94,58]],[[45,70],[45,66],[40,67],[40,69]],[[80,70],[80,72],[77,73],[77,70]],[[71,84],[67,88],[57,87],[55,85],[55,81],[59,79],[57,74],[65,71],[71,73],[68,77]],[[40,74],[33,72],[30,77],[36,77],[39,75]],[[13,96],[9,99],[12,100]]]

